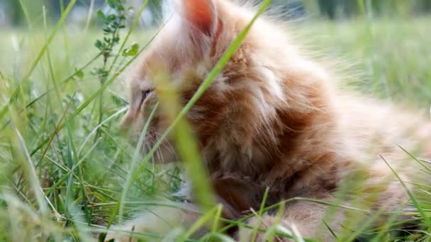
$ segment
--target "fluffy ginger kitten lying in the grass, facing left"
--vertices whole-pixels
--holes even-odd
[[[228,0],[177,3],[177,16],[143,54],[131,77],[130,108],[122,127],[129,129],[132,142],[157,102],[154,72],[167,69],[172,86],[187,103],[254,15]],[[338,90],[336,81],[302,54],[288,34],[259,18],[187,116],[223,204],[223,216],[240,219],[258,210],[266,188],[267,205],[293,197],[323,202],[342,197],[342,205],[364,204],[376,212],[403,209],[408,195],[381,156],[408,181],[414,161],[397,144],[429,159],[430,122]],[[145,146],[152,146],[166,123],[156,114]],[[171,152],[161,154],[163,161],[171,159]],[[325,204],[296,200],[286,204],[281,218],[269,212],[247,224],[264,229],[279,224],[306,238],[332,241],[335,238],[323,223],[329,210]],[[348,225],[342,226],[344,217],[352,213],[337,209],[328,226],[341,233]],[[142,215],[123,229],[166,234],[171,222],[187,227],[198,219],[186,209],[159,209],[155,214]],[[362,216],[366,214],[357,214]],[[231,235],[237,239],[251,233],[242,232]],[[264,236],[260,233],[258,241]],[[115,234],[109,238],[129,241],[128,236]]]

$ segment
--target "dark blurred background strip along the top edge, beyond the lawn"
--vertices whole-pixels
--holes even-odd
[[[40,7],[45,6],[48,16],[53,19],[59,18],[62,7],[69,4],[70,0],[1,0],[0,1],[0,25],[23,25],[25,23],[21,4],[28,5],[28,11],[36,16],[40,13]],[[144,0],[127,0],[130,6],[140,6]],[[260,1],[254,1],[259,4]],[[157,22],[157,16],[164,2],[162,0],[150,0],[148,10],[151,18]],[[79,0],[75,5],[75,11],[89,9],[90,6],[103,8],[106,6],[104,0]],[[429,0],[274,0],[272,8],[286,13],[286,17],[323,16],[331,20],[355,18],[361,16],[363,8],[372,16],[418,16],[431,12],[431,1]],[[148,14],[147,14],[148,15]],[[83,16],[84,17],[84,16]],[[32,20],[33,21],[33,20]]]

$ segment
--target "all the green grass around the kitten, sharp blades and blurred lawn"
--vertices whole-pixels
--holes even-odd
[[[335,58],[335,63],[339,63],[337,71],[341,70],[338,74],[348,79],[345,85],[367,95],[428,110],[430,25],[431,18],[357,19],[343,23],[310,20],[298,23],[297,30],[298,36],[307,40],[306,45],[323,53],[323,59],[334,63]],[[106,224],[115,224],[122,217],[157,206],[177,206],[169,200],[175,200],[171,194],[184,181],[184,168],[147,162],[150,156],[136,154],[135,147],[118,131],[127,105],[125,74],[120,72],[133,62],[133,57],[118,57],[108,81],[101,86],[99,77],[91,75],[92,69],[103,64],[101,58],[94,59],[99,54],[94,42],[101,38],[101,30],[53,30],[54,26],[0,30],[0,110],[4,110],[0,113],[0,241],[91,240],[94,233],[105,231]],[[125,34],[126,31],[121,40]],[[133,30],[124,46],[139,42],[145,47],[153,34],[154,31]],[[225,60],[220,60],[219,67]],[[84,75],[70,78],[82,67]],[[209,83],[211,75],[201,91]],[[184,115],[186,110],[177,113]],[[184,129],[173,130],[178,137],[187,135],[179,133]],[[192,139],[177,142],[180,147],[193,144]],[[190,167],[196,167],[193,162],[199,157],[185,152],[186,148],[181,151],[181,156],[191,161],[185,167],[193,171]],[[199,174],[202,173],[191,175],[204,179]],[[430,190],[429,185],[421,188]],[[205,195],[205,186],[196,189],[204,195],[202,203],[211,196]],[[431,195],[424,194],[414,200],[419,209],[412,213],[418,217],[430,216]],[[325,205],[337,208],[334,204]],[[196,226],[211,221],[213,234],[218,234],[220,228],[215,224],[219,209],[212,207],[211,202],[206,208],[206,216]],[[262,207],[257,214],[267,209],[271,208]],[[347,209],[352,209],[354,223],[355,212],[367,208]],[[357,222],[364,226],[340,238],[349,238],[356,232],[377,241],[409,236],[390,233],[388,226],[371,231],[366,222]],[[424,225],[409,238],[430,241],[430,231],[431,227]],[[141,236],[151,239],[162,235]]]

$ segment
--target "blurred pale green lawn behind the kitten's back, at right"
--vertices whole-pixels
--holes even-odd
[[[340,62],[349,84],[379,98],[420,105],[431,100],[430,18],[306,23],[301,36],[313,51]],[[334,61],[335,58],[335,61]]]

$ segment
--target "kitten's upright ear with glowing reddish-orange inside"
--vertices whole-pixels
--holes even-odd
[[[217,28],[215,0],[180,0],[184,18],[202,33],[213,35]]]

